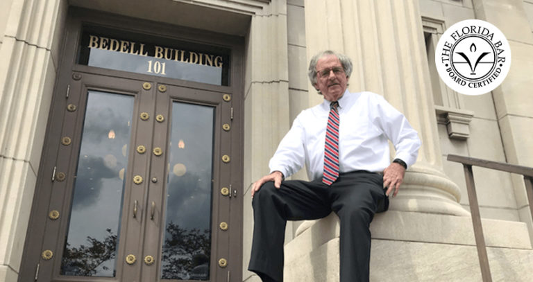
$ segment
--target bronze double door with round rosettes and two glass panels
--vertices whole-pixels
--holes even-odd
[[[232,93],[81,72],[68,87],[35,280],[232,281]]]

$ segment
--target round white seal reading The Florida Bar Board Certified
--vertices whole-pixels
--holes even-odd
[[[435,50],[435,65],[451,89],[481,95],[498,87],[507,76],[511,49],[496,26],[466,19],[443,33]]]

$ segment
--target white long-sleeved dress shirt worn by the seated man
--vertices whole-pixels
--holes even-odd
[[[354,170],[382,172],[391,164],[389,143],[396,157],[412,166],[421,142],[407,118],[387,100],[372,92],[350,93],[339,98],[339,172]],[[307,168],[310,180],[323,175],[325,127],[330,101],[303,110],[283,137],[270,159],[271,172],[279,170],[285,177]]]

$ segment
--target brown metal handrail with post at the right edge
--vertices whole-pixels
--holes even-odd
[[[530,204],[530,212],[533,218],[533,168],[527,166],[516,166],[514,164],[505,164],[498,161],[487,161],[484,159],[475,159],[472,157],[462,157],[458,155],[448,155],[448,161],[455,161],[463,164],[464,177],[466,179],[466,191],[468,192],[468,203],[472,215],[472,224],[474,227],[475,245],[477,247],[477,257],[480,260],[481,276],[484,282],[491,282],[491,269],[489,267],[489,258],[487,256],[487,245],[483,236],[483,227],[481,224],[480,206],[477,204],[477,195],[475,193],[474,175],[472,166],[480,166],[493,170],[505,171],[507,173],[516,173],[524,176],[525,190],[527,201]]]

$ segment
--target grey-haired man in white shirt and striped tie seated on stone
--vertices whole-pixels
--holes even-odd
[[[296,117],[270,160],[271,173],[253,184],[248,270],[262,281],[283,281],[287,220],[324,218],[331,211],[341,227],[340,281],[369,281],[370,222],[398,193],[420,139],[382,96],[350,93],[351,72],[350,59],[333,51],[311,59],[309,78],[324,101]],[[392,163],[387,140],[396,148]],[[310,182],[284,180],[304,164]]]

